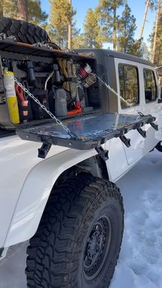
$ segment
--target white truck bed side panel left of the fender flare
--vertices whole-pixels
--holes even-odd
[[[3,247],[25,179],[29,176],[32,168],[43,161],[36,155],[38,147],[40,147],[40,144],[23,141],[16,135],[0,139],[0,247]],[[66,149],[56,147],[55,151],[59,153]],[[52,151],[54,153],[54,148],[52,148]],[[34,190],[32,191],[34,192]],[[24,201],[26,200],[24,199]]]

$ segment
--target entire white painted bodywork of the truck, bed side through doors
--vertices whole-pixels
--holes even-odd
[[[117,90],[119,92],[118,64],[131,61],[115,59],[117,73]],[[138,64],[140,76],[140,104],[132,109],[121,109],[121,113],[150,113],[158,117],[159,128],[162,128],[161,104],[157,101],[146,105],[142,69]],[[150,69],[150,67],[149,67]],[[148,153],[162,139],[161,129],[156,132],[146,125],[146,139],[137,131],[130,131],[131,147],[126,148],[119,139],[112,139],[104,145],[108,149],[109,159],[106,162],[108,176],[117,181],[135,163]],[[39,143],[26,142],[19,137],[11,136],[0,139],[0,175],[1,175],[1,210],[0,210],[0,247],[8,247],[30,239],[36,232],[40,217],[47,199],[59,175],[67,168],[96,155],[91,151],[77,151],[59,146],[52,146],[45,160],[39,159],[37,149]]]

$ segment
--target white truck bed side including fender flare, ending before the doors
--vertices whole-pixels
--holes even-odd
[[[37,149],[41,144],[11,136],[0,140],[1,151],[1,210],[0,247],[23,242],[36,232],[47,199],[59,175],[67,168],[96,155],[91,151],[52,146],[46,159],[40,159]],[[115,147],[119,147],[114,149]],[[118,139],[105,144],[110,160],[108,175],[116,181],[129,169],[122,142]],[[122,160],[122,167],[114,162]]]

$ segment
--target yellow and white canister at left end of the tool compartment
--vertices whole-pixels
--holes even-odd
[[[14,89],[14,80],[10,76],[14,76],[14,73],[12,71],[3,71],[4,86],[8,104],[8,111],[10,114],[10,121],[13,124],[19,124],[19,108],[16,98],[16,92]]]

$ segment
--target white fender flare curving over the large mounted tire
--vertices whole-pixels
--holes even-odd
[[[58,177],[68,168],[97,152],[69,149],[40,162],[25,179],[3,247],[27,241],[36,232],[47,200]]]

